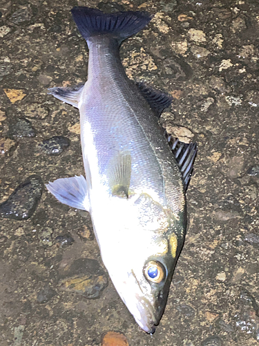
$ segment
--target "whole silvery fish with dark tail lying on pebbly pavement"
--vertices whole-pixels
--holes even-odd
[[[137,324],[159,325],[186,234],[186,188],[196,143],[172,139],[159,124],[172,97],[129,80],[119,57],[124,39],[144,28],[145,11],[71,10],[89,49],[88,79],[49,93],[79,109],[83,175],[46,188],[87,210],[108,274]]]

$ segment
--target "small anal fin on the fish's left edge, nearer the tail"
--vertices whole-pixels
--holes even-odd
[[[84,83],[80,83],[75,86],[57,86],[55,88],[48,89],[48,91],[51,95],[55,96],[55,98],[58,98],[59,100],[78,108],[78,102],[83,88]]]

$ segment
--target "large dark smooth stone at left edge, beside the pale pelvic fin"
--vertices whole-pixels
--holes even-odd
[[[35,212],[41,199],[43,183],[36,175],[29,176],[0,205],[0,216],[6,219],[26,220]]]

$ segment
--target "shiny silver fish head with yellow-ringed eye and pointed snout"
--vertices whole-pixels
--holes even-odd
[[[173,270],[184,241],[184,224],[180,223],[179,232],[168,210],[149,197],[141,199],[141,203],[140,199],[135,201],[134,208],[127,208],[128,214],[124,215],[127,222],[122,221],[109,253],[105,255],[102,251],[102,258],[137,324],[153,334],[166,307]],[[123,217],[123,212],[120,216]]]

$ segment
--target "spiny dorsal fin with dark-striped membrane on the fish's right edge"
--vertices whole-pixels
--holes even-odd
[[[186,192],[193,172],[193,163],[197,154],[197,143],[183,143],[178,138],[169,136],[167,133],[166,138],[182,173],[184,192]]]

